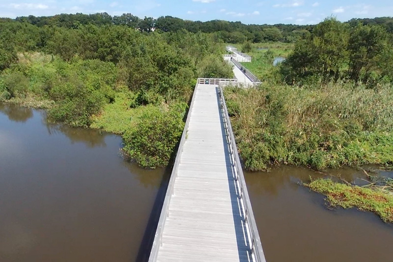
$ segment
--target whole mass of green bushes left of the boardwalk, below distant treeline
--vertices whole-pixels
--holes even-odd
[[[214,34],[146,33],[148,18],[143,33],[131,25],[49,27],[31,19],[0,21],[0,48],[7,43],[0,100],[48,108],[49,119],[72,126],[126,133],[124,152],[143,167],[168,165],[197,77],[232,77]]]

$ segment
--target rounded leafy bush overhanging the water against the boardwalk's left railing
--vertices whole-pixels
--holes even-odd
[[[160,108],[145,111],[135,127],[123,136],[124,153],[142,167],[165,167],[184,128],[185,103],[172,105],[168,112]]]

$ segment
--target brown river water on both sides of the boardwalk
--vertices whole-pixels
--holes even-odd
[[[118,136],[0,104],[0,261],[144,261],[169,171],[125,162],[120,146]],[[246,173],[267,261],[392,261],[392,225],[326,208],[298,184],[310,175],[321,176],[294,167]]]

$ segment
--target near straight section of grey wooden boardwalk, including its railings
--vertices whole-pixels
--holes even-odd
[[[149,262],[265,262],[222,86],[198,79]]]

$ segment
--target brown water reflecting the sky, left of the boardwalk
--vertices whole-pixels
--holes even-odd
[[[136,261],[164,170],[123,161],[119,137],[44,119],[0,104],[0,262]]]

